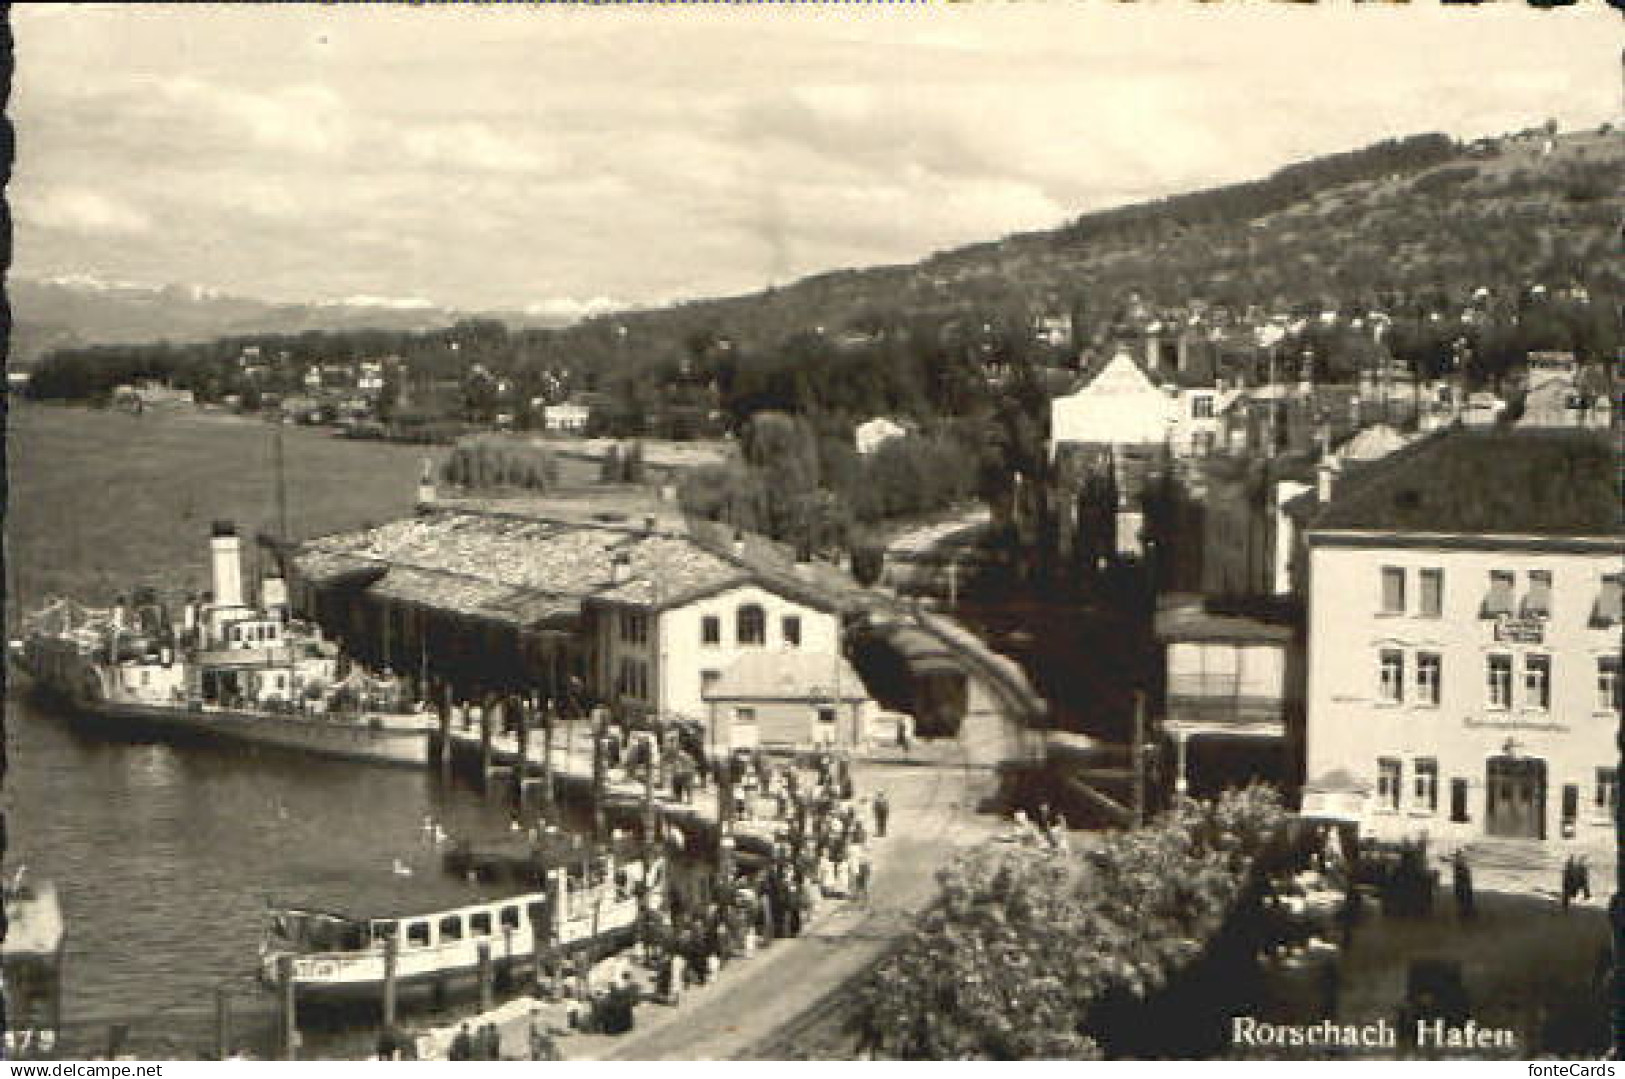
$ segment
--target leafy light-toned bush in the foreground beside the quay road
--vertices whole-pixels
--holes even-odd
[[[982,848],[861,990],[860,1043],[897,1060],[1100,1056],[1092,1012],[1207,949],[1284,814],[1269,788],[1183,801],[1084,860]]]

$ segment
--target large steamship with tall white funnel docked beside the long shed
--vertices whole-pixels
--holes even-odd
[[[177,626],[153,598],[110,609],[55,600],[23,621],[13,666],[37,694],[102,734],[270,746],[380,764],[427,762],[434,717],[390,674],[351,663],[289,618],[288,588],[242,587],[236,526],[210,538],[213,590]]]

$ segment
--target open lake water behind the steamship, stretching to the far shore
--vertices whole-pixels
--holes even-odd
[[[410,514],[444,448],[284,429],[288,530],[315,536]],[[6,622],[47,595],[106,603],[135,585],[205,588],[208,530],[276,528],[273,429],[232,416],[13,405],[6,416]],[[245,569],[257,546],[245,543]]]

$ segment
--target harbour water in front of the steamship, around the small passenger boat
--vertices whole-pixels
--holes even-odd
[[[260,1042],[273,1014],[254,982],[266,900],[340,895],[364,910],[405,895],[434,908],[474,895],[440,871],[422,821],[484,835],[510,816],[502,801],[442,788],[432,770],[109,743],[18,687],[6,752],[6,869],[57,882],[63,1038],[80,1053],[101,1051],[112,1024],[128,1024],[140,1051],[206,1051],[219,985],[232,988],[242,1040]],[[354,1048],[343,1024],[312,1025],[312,1051]]]

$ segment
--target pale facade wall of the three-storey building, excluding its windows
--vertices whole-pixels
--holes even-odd
[[[1545,544],[1550,548],[1550,544]],[[1383,567],[1406,570],[1406,613],[1383,613]],[[1436,618],[1420,614],[1419,570],[1443,570]],[[1531,570],[1552,574],[1550,618],[1523,626],[1531,640],[1480,618],[1490,572],[1516,574],[1521,603]],[[1310,551],[1308,778],[1344,769],[1372,785],[1368,830],[1384,837],[1427,834],[1435,840],[1485,835],[1487,762],[1521,757],[1545,765],[1544,834],[1566,842],[1563,786],[1578,786],[1573,842],[1612,842],[1607,809],[1597,808],[1597,770],[1617,767],[1618,696],[1599,700],[1599,660],[1620,653],[1618,626],[1592,626],[1604,574],[1620,570],[1620,549],[1445,549],[1349,548],[1315,543]],[[1537,640],[1534,640],[1537,639]],[[1404,656],[1402,699],[1380,691],[1383,650]],[[1436,705],[1419,699],[1417,655],[1440,656]],[[1528,655],[1550,656],[1550,707],[1529,704]],[[1513,700],[1488,700],[1488,656],[1510,656]],[[1401,760],[1398,808],[1378,806],[1380,757]],[[1415,760],[1438,760],[1438,798],[1417,796]],[[1451,821],[1451,783],[1466,783],[1466,821]]]

